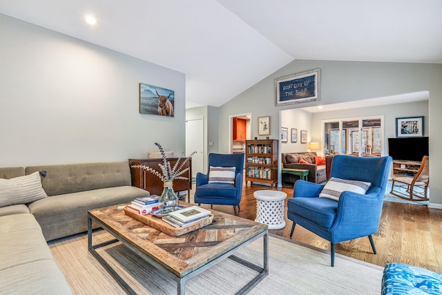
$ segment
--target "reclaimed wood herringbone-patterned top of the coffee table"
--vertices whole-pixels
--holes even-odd
[[[185,202],[180,204],[193,205]],[[182,278],[251,238],[268,232],[267,225],[219,211],[212,210],[212,213],[214,217],[211,225],[182,236],[164,234],[127,216],[117,206],[90,210],[88,217],[118,240],[128,242],[148,258]]]

